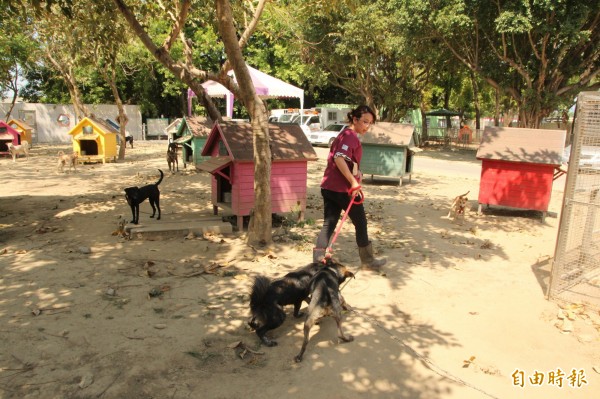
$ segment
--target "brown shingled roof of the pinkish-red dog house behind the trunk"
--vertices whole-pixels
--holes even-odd
[[[269,124],[271,138],[271,157],[278,160],[314,161],[317,154],[299,125]],[[253,161],[252,126],[248,122],[222,121],[216,123],[202,155],[211,155],[211,149],[221,137],[229,154],[236,161]]]

